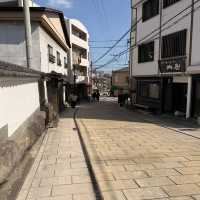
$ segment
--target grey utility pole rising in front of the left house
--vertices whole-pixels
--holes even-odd
[[[31,68],[32,67],[32,36],[31,36],[31,19],[30,19],[29,0],[23,0],[23,7],[24,7],[27,68]]]

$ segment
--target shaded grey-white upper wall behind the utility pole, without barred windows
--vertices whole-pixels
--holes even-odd
[[[33,69],[40,70],[38,24],[32,23]],[[26,66],[25,29],[22,22],[0,21],[0,60]]]

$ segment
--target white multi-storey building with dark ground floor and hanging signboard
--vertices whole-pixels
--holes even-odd
[[[132,0],[131,77],[136,104],[200,116],[200,3]]]

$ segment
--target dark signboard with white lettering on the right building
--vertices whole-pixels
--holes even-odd
[[[177,57],[160,60],[159,69],[161,73],[185,72],[186,57]]]

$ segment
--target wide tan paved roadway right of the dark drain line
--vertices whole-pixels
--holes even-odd
[[[200,199],[200,140],[111,102],[85,105],[78,117],[105,199]]]

